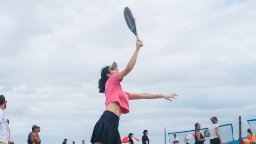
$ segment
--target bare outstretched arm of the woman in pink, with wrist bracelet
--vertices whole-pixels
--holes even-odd
[[[172,93],[170,95],[164,94],[151,94],[151,93],[130,93],[129,99],[159,99],[165,98],[167,100],[172,101],[172,99],[176,99],[178,95],[176,93]]]

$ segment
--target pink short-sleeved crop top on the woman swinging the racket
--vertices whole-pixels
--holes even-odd
[[[129,112],[129,94],[128,92],[122,90],[120,82],[123,80],[119,80],[118,78],[119,73],[111,76],[108,81],[106,82],[106,102],[105,104],[109,104],[111,102],[118,102],[121,109],[122,114],[127,114]]]

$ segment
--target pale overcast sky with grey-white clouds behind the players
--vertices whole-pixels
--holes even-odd
[[[0,94],[15,144],[27,143],[33,125],[42,144],[90,143],[105,110],[101,68],[115,61],[123,70],[136,48],[126,6],[144,46],[122,88],[179,96],[130,100],[120,136],[141,139],[147,129],[150,144],[164,144],[165,127],[204,128],[213,116],[233,124],[235,139],[241,116],[247,135],[246,120],[256,118],[256,0],[1,0]]]

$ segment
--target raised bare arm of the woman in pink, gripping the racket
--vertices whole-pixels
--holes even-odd
[[[135,50],[134,54],[132,55],[130,61],[128,62],[126,68],[122,72],[119,72],[119,80],[124,78],[133,69],[133,67],[136,63],[136,60],[137,60],[139,49],[140,49],[139,45],[143,45],[143,43],[141,40],[137,39],[136,50]]]

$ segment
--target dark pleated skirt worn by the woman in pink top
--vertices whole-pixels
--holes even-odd
[[[111,111],[104,111],[101,118],[94,126],[91,135],[91,144],[95,142],[103,144],[121,144],[118,126],[119,117]]]

